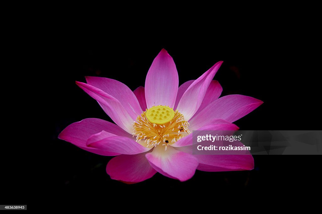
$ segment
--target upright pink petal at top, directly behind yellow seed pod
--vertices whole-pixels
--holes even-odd
[[[153,60],[145,80],[147,108],[157,105],[174,107],[179,78],[175,62],[165,49]]]

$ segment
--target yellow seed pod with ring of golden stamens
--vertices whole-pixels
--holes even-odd
[[[141,115],[133,124],[133,137],[146,147],[154,147],[162,143],[167,146],[190,134],[189,123],[178,111],[168,106],[153,106]],[[144,141],[143,141],[144,140]]]

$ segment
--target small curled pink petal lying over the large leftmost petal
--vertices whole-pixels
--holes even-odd
[[[151,150],[131,138],[116,136],[105,131],[90,136],[86,145],[110,153],[111,156],[115,154],[135,155]]]

